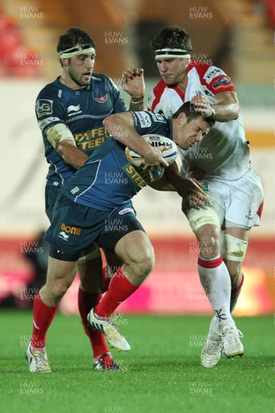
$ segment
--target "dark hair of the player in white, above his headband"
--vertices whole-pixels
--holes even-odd
[[[153,50],[164,49],[183,49],[191,52],[192,43],[188,33],[175,25],[162,29],[151,41],[150,46]]]

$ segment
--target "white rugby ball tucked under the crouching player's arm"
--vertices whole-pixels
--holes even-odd
[[[173,140],[166,138],[166,136],[153,134],[142,135],[142,138],[144,138],[146,142],[150,143],[150,145],[155,148],[164,146],[166,147],[166,149],[162,152],[162,158],[166,160],[168,165],[174,162],[174,160],[177,158],[179,151],[177,149],[177,145],[175,144],[175,142],[173,142]],[[131,162],[132,165],[135,165],[135,167],[144,167],[144,158],[138,153],[129,149],[129,147],[125,148],[125,155],[129,162]]]

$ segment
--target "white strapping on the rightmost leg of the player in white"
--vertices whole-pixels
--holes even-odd
[[[243,262],[248,242],[230,234],[221,234],[221,256],[224,260]]]

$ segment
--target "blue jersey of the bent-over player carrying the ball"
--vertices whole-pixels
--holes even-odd
[[[159,134],[172,139],[170,119],[153,112],[131,113],[139,134]],[[142,171],[134,167],[125,156],[124,145],[111,137],[67,181],[63,194],[87,207],[110,211],[122,207],[146,184],[157,180],[162,170]]]

